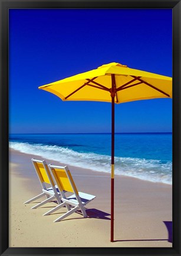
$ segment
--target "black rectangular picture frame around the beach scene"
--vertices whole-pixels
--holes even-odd
[[[18,8],[170,8],[173,11],[173,247],[172,248],[9,248],[8,10]],[[181,131],[181,3],[179,0],[0,0],[0,252],[1,255],[181,255],[180,131]]]

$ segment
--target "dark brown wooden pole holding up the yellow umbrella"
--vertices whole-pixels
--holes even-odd
[[[114,241],[114,75],[111,90],[111,242]]]

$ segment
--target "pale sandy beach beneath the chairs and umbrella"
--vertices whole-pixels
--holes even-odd
[[[34,203],[24,205],[41,193],[32,157],[42,159],[9,151],[9,247],[172,247],[171,185],[115,176],[115,241],[110,242],[110,175],[45,159],[68,164],[78,190],[96,196],[87,205],[88,218],[73,213],[54,223],[65,208],[42,216],[54,202],[33,210]]]

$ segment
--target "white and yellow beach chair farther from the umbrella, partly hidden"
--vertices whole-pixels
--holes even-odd
[[[32,197],[24,203],[31,203],[34,200],[41,198],[42,196],[46,196],[47,199],[43,200],[41,203],[38,203],[38,205],[33,206],[31,209],[36,209],[53,199],[57,200],[58,204],[62,203],[60,192],[58,191],[57,186],[55,186],[54,180],[52,179],[50,170],[45,160],[41,161],[32,158],[31,161],[41,183],[42,193],[38,196]]]

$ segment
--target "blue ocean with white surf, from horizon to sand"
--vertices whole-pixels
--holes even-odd
[[[111,134],[10,134],[9,147],[110,173]],[[115,134],[115,174],[172,184],[172,133]]]

